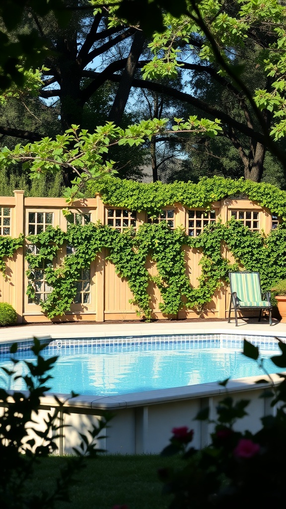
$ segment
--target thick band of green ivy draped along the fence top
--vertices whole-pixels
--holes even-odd
[[[257,183],[251,180],[225,179],[223,177],[203,177],[197,184],[193,182],[174,182],[150,184],[105,177],[88,184],[89,196],[101,195],[105,205],[130,210],[146,211],[157,215],[163,207],[180,203],[187,208],[208,209],[212,202],[227,197],[245,196],[262,207],[286,220],[286,191],[272,184]]]

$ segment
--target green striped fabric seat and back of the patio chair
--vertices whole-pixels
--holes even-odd
[[[261,300],[260,278],[258,272],[231,272],[231,292],[237,293],[240,306],[269,306],[268,301]]]

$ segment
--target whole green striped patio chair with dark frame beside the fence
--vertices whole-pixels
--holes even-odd
[[[267,309],[269,312],[269,325],[272,324],[272,305],[270,302],[271,292],[262,293],[260,286],[259,272],[229,272],[231,282],[231,303],[228,312],[228,323],[231,322],[231,312],[235,312],[235,324],[237,323],[238,310],[259,309],[259,322],[262,311]]]

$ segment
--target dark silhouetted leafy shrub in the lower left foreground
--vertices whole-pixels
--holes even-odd
[[[40,486],[33,484],[35,468],[42,458],[47,457],[56,448],[56,440],[62,435],[64,426],[59,424],[60,411],[66,401],[55,396],[57,407],[47,413],[45,420],[41,420],[41,428],[37,422],[41,398],[50,390],[48,386],[56,357],[45,359],[41,352],[47,346],[36,337],[32,351],[35,361],[22,361],[21,368],[17,359],[17,344],[11,346],[11,368],[1,367],[0,404],[3,411],[0,417],[0,506],[2,509],[52,509],[59,500],[69,501],[69,486],[76,482],[75,473],[84,467],[85,458],[95,457],[102,449],[96,448],[101,438],[101,431],[110,420],[105,415],[98,426],[93,426],[86,434],[81,434],[81,443],[75,447],[76,456],[68,458],[61,470],[60,476],[55,477],[55,488],[48,493]],[[24,366],[24,367],[23,367]],[[21,371],[22,370],[22,371]],[[19,373],[23,373],[19,375]],[[3,388],[11,387],[21,379],[26,390],[13,391]],[[76,394],[71,393],[71,397]],[[27,488],[30,484],[33,488]]]

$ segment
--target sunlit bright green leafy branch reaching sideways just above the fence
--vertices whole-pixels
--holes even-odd
[[[221,130],[219,121],[198,120],[195,116],[184,122],[176,119],[173,130],[167,130],[167,119],[141,121],[128,126],[127,129],[116,127],[112,122],[96,128],[94,133],[79,126],[72,125],[63,135],[55,139],[42,138],[39,142],[16,145],[13,150],[4,147],[0,152],[0,169],[10,164],[22,163],[25,171],[30,172],[31,179],[39,179],[42,175],[55,175],[63,168],[75,178],[72,187],[67,188],[64,195],[68,203],[76,197],[82,197],[85,184],[105,175],[114,175],[115,161],[108,159],[108,148],[112,145],[141,145],[156,134],[175,134],[178,132],[204,132],[213,137]]]

